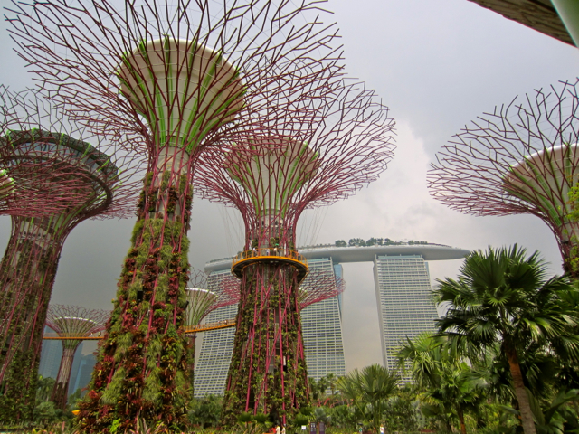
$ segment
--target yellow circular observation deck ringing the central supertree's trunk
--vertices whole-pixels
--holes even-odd
[[[243,269],[256,264],[288,264],[298,270],[298,284],[308,276],[308,260],[295,250],[266,248],[245,250],[233,258],[232,273],[238,278],[243,277]]]

